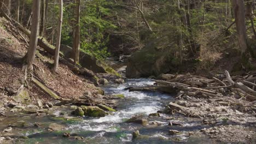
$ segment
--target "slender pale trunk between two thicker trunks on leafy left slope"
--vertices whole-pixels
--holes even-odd
[[[57,40],[55,48],[55,57],[54,57],[54,73],[56,73],[59,66],[59,53],[60,53],[60,42],[61,42],[61,26],[62,26],[62,16],[63,16],[63,3],[62,0],[59,0],[59,24],[57,28]]]

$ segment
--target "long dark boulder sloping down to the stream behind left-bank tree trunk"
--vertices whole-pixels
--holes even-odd
[[[73,58],[72,47],[61,45],[60,51],[66,58]],[[107,64],[103,63],[96,57],[93,57],[83,51],[80,51],[79,54],[79,64],[84,68],[94,71],[94,73],[108,73],[120,77],[120,74],[117,73],[117,71],[115,71],[113,68],[110,68]]]

